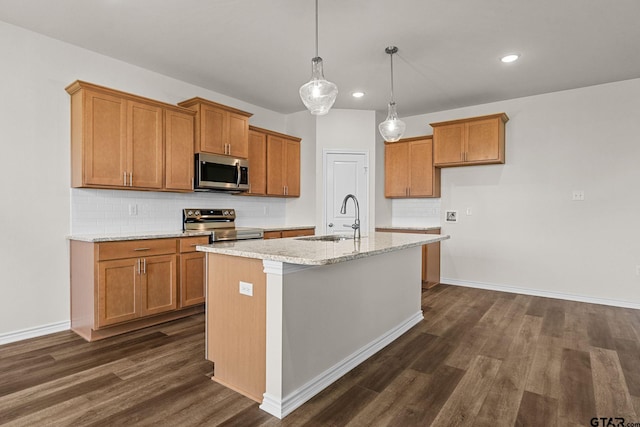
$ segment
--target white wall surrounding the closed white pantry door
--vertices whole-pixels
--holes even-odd
[[[376,123],[375,111],[332,109],[316,121],[316,224],[317,232],[324,232],[323,150],[364,151],[369,156],[369,228],[375,225],[376,183]],[[364,207],[361,205],[361,216]]]

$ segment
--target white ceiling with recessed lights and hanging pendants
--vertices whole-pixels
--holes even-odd
[[[400,116],[640,77],[640,0],[319,0],[319,9],[334,108],[386,109],[388,45],[399,48]],[[1,21],[281,113],[304,110],[314,10],[314,0],[0,0]],[[521,59],[502,64],[511,52]]]

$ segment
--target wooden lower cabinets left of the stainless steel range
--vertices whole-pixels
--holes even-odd
[[[94,341],[202,312],[204,269],[189,265],[179,274],[180,240],[72,240],[71,329]],[[200,289],[179,294],[178,278],[184,276],[190,281],[187,289],[197,289],[198,279]],[[194,294],[202,300],[196,302]],[[188,304],[182,304],[185,295],[190,295]]]

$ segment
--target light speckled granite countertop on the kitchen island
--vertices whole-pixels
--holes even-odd
[[[291,237],[219,242],[197,246],[196,249],[201,252],[280,261],[289,264],[327,265],[422,246],[446,240],[449,237],[439,234],[371,233],[359,241],[348,238],[337,242],[323,242]]]

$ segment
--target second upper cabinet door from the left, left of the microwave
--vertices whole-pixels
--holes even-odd
[[[127,102],[129,183],[138,188],[162,188],[164,150],[160,107]]]

